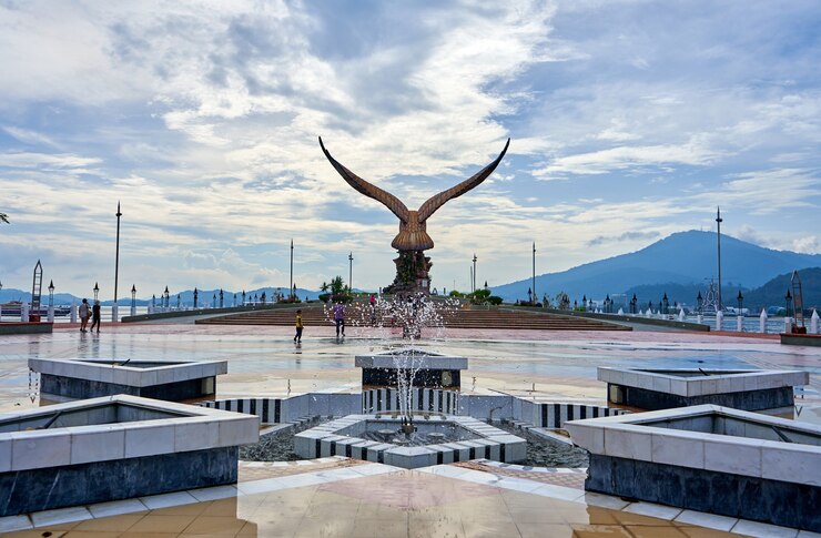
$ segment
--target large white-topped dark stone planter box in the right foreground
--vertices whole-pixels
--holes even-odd
[[[585,489],[821,530],[821,427],[716,405],[569,422]]]

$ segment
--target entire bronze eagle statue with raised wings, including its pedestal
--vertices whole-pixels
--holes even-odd
[[[427,234],[427,220],[445,202],[462,196],[485,181],[496,170],[499,162],[501,162],[501,158],[505,156],[508,145],[510,145],[510,139],[507,139],[505,149],[501,150],[499,156],[490,164],[458,185],[432,196],[417,211],[411,211],[399,199],[389,192],[368,183],[339,164],[336,159],[331,156],[331,153],[325,149],[325,144],[322,143],[322,136],[320,136],[322,151],[334,169],[342,175],[342,179],[365,196],[382,202],[399,217],[399,233],[391,242],[391,245],[399,251],[399,257],[395,260],[397,276],[393,286],[391,286],[398,292],[428,292],[430,286],[428,271],[432,264],[430,258],[424,255],[424,251],[433,248],[434,241]]]

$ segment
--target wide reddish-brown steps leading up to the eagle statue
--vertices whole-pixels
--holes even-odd
[[[362,316],[354,315],[355,312],[357,312],[355,308],[348,308],[346,319],[348,325],[362,325]],[[272,308],[199,319],[196,323],[200,325],[275,325],[292,327],[294,326],[295,316],[296,308]],[[333,324],[333,316],[330,312],[326,314],[322,306],[303,307],[302,319],[306,327]],[[389,321],[377,319],[377,322],[386,326],[391,325]],[[628,326],[599,319],[505,307],[473,307],[448,311],[444,314],[444,322],[447,328],[631,331]]]

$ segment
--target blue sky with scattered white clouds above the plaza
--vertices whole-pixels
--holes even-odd
[[[0,0],[0,283],[102,298],[393,281],[439,209],[432,285],[505,284],[713,230],[821,252],[821,4]],[[706,275],[707,276],[707,275]]]

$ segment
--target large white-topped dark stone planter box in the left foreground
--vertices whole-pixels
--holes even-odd
[[[233,484],[259,424],[126,395],[0,415],[0,516]]]

